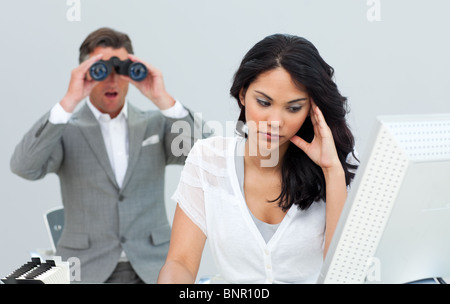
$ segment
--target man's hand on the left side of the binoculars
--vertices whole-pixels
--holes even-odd
[[[89,96],[92,89],[98,83],[90,78],[88,71],[91,65],[100,60],[102,56],[103,54],[93,56],[72,70],[69,88],[60,102],[66,112],[72,113],[78,103]]]

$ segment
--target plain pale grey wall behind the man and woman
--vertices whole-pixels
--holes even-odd
[[[379,21],[367,13],[380,3]],[[69,5],[67,4],[69,3]],[[450,2],[446,0],[80,0],[1,1],[0,276],[50,246],[43,213],[60,205],[56,176],[29,182],[9,159],[23,134],[66,92],[78,47],[102,26],[127,32],[135,53],[161,69],[167,89],[206,120],[237,118],[231,78],[245,52],[263,37],[291,33],[311,40],[336,70],[350,102],[349,123],[364,150],[379,114],[450,112]],[[129,99],[154,106],[136,89]],[[167,210],[180,167],[167,170]],[[214,273],[208,252],[201,273]]]

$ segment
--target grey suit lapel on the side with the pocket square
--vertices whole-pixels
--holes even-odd
[[[124,189],[130,180],[133,169],[136,166],[139,158],[139,153],[142,148],[142,141],[144,140],[147,129],[146,116],[128,103],[128,138],[129,138],[129,152],[128,152],[128,167],[122,184]]]

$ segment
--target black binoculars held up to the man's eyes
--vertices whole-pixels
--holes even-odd
[[[133,62],[130,59],[120,60],[111,57],[109,60],[99,60],[89,68],[89,74],[95,81],[106,79],[112,71],[117,74],[129,76],[134,81],[142,81],[147,77],[147,68],[140,62]]]

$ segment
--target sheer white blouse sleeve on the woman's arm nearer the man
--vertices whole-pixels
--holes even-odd
[[[203,183],[199,164],[201,159],[201,140],[197,141],[186,159],[172,199],[178,203],[184,213],[196,224],[205,235],[206,214]]]

